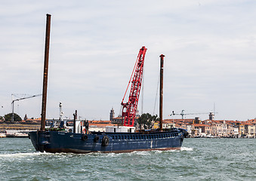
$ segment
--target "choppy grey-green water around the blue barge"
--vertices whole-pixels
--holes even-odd
[[[256,139],[185,139],[179,151],[87,155],[35,152],[0,138],[1,180],[256,180]]]

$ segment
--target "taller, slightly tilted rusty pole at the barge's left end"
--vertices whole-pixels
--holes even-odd
[[[43,93],[42,93],[42,114],[41,114],[42,118],[41,118],[40,130],[45,130],[51,14],[46,14],[46,17],[47,17],[47,20],[46,20],[46,35],[45,35],[45,66],[44,66],[44,80],[43,80]]]

